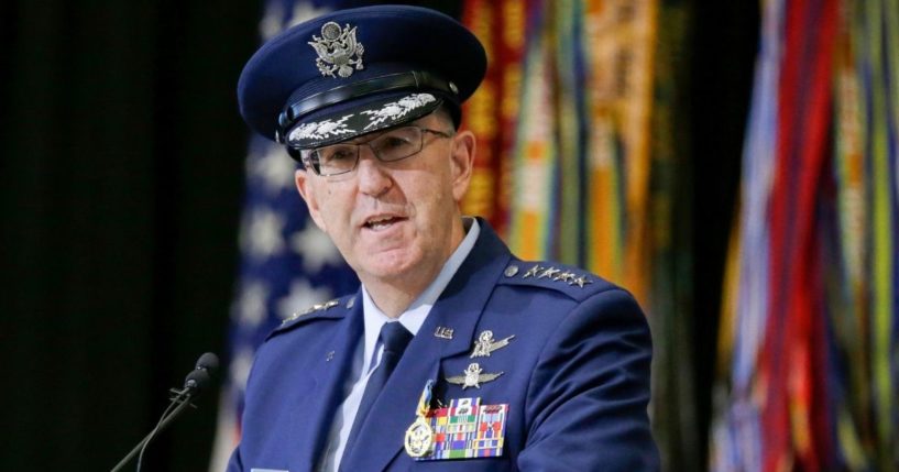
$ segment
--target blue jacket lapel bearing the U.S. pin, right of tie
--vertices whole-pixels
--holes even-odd
[[[481,220],[478,242],[372,405],[357,447],[341,462],[341,471],[381,471],[399,453],[425,383],[438,380],[441,359],[471,350],[478,320],[508,260],[508,250]],[[452,339],[437,338],[439,327],[452,329]]]

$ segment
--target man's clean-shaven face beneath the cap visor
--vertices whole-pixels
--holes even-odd
[[[404,125],[409,124],[452,133],[450,120],[439,113]],[[421,152],[402,161],[381,162],[362,145],[355,171],[348,175],[296,173],[316,224],[366,285],[375,279],[427,284],[463,237],[459,202],[471,178],[474,138],[470,132],[424,138]]]

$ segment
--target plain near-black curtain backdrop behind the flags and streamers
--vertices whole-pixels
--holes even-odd
[[[111,469],[196,358],[226,352],[248,138],[234,87],[260,3],[0,3],[0,470]],[[668,3],[692,18],[676,64],[702,458],[758,3]],[[146,470],[206,469],[217,398]]]

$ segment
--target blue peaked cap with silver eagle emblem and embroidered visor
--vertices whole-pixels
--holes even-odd
[[[486,54],[454,19],[425,8],[336,11],[266,42],[238,81],[240,112],[257,133],[302,150],[406,123],[480,85]]]

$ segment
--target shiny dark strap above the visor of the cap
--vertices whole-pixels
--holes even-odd
[[[459,100],[459,89],[456,84],[436,74],[423,70],[388,74],[336,87],[288,105],[277,117],[278,130],[275,132],[275,141],[284,144],[287,130],[293,128],[300,118],[316,110],[366,95],[403,89],[434,90],[454,97],[457,102]]]

